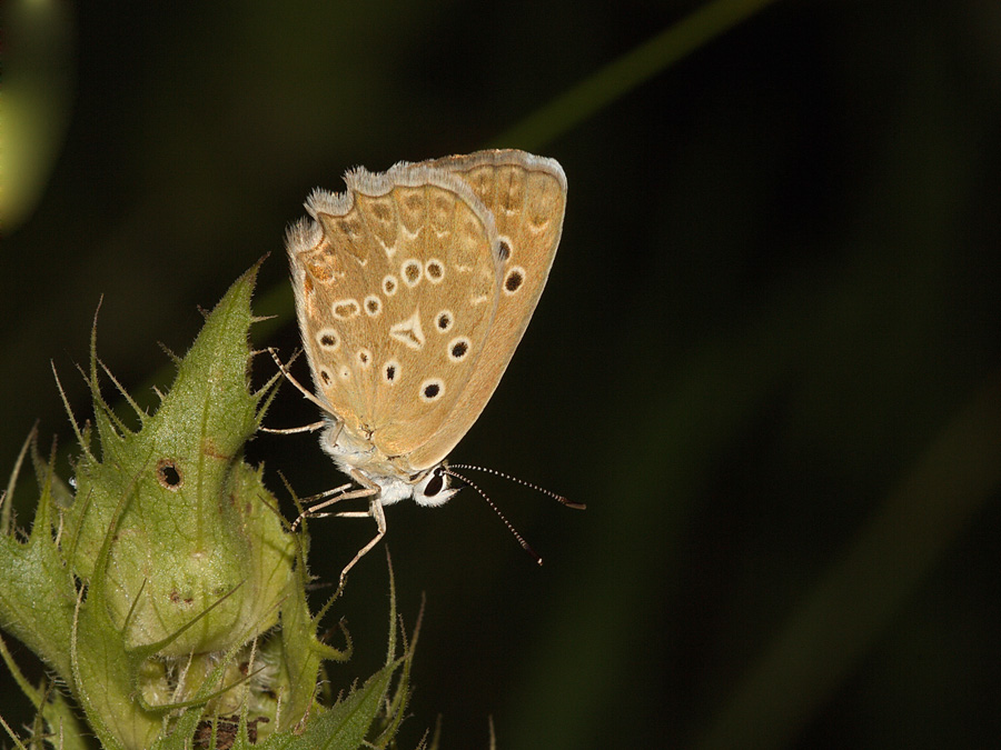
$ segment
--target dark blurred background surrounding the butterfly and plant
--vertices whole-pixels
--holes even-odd
[[[71,440],[50,360],[87,416],[101,297],[101,357],[152,403],[158,342],[185,351],[197,306],[271,253],[256,343],[288,353],[283,233],[314,187],[497,144],[697,7],[56,3],[51,161],[0,254],[3,471],[36,419]],[[26,28],[4,29],[9,93]],[[487,747],[488,717],[500,748],[991,744],[1001,7],[775,2],[585,110],[503,143],[562,162],[566,222],[453,458],[588,509],[483,478],[541,569],[470,492],[388,509],[408,623],[427,601],[403,746],[439,714],[445,748]],[[286,388],[269,422],[313,419]],[[300,494],[341,481],[310,436],[248,456],[281,497],[278,470]],[[311,529],[328,581],[371,532]],[[358,653],[335,689],[380,663],[387,608],[377,551],[336,607]]]

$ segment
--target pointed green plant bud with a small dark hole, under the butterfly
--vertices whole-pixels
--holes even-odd
[[[262,398],[247,388],[250,289],[247,280],[219,303],[156,413],[136,409],[136,431],[103,400],[92,347],[100,458],[83,444],[63,549],[85,580],[106,579],[129,649],[170,639],[157,654],[184,657],[242,644],[277,622],[291,580],[294,540],[260,472],[241,461]]]

